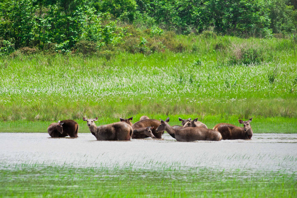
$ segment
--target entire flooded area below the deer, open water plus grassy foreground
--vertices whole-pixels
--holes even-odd
[[[297,134],[96,141],[0,133],[0,197],[296,197]]]

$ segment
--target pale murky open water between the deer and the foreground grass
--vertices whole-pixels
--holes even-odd
[[[177,142],[158,139],[96,141],[50,138],[47,133],[0,133],[0,168],[9,164],[69,164],[78,167],[160,166],[297,171],[297,134],[254,134],[252,140]]]

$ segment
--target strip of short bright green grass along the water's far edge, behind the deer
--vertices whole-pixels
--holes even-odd
[[[132,123],[139,121],[142,114],[134,115]],[[183,119],[192,118],[196,115],[149,115],[152,119],[166,119],[170,117],[171,125],[181,125],[178,121],[178,117]],[[130,116],[129,116],[130,117]],[[231,123],[236,126],[242,126],[238,123],[236,115],[206,115],[200,117],[199,120],[205,123],[208,128],[213,128],[217,123]],[[82,119],[75,120],[79,124],[79,133],[89,133],[89,128]],[[96,125],[103,125],[113,122],[118,122],[119,118],[103,117],[96,122]],[[47,132],[47,128],[52,121],[6,121],[0,122],[0,132]],[[285,117],[254,117],[251,123],[254,133],[297,133],[297,118],[285,118]]]

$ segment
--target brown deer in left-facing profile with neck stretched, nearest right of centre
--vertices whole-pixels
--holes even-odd
[[[212,129],[205,129],[202,127],[185,127],[182,129],[174,129],[168,124],[169,117],[164,121],[162,119],[161,124],[156,129],[159,131],[167,131],[167,133],[180,142],[193,142],[196,140],[208,140],[208,141],[220,141],[222,135]]]

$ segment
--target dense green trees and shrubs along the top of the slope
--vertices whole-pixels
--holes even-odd
[[[134,44],[122,49],[143,52],[147,37],[164,30],[296,39],[296,8],[295,0],[3,0],[0,55],[19,48],[92,53],[127,42]]]

